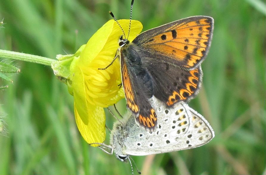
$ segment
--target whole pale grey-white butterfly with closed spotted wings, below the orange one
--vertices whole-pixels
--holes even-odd
[[[115,122],[111,145],[105,145],[111,149],[109,154],[114,151],[119,160],[125,161],[129,155],[143,156],[195,148],[215,136],[206,119],[186,103],[179,103],[170,109],[157,109],[158,124],[152,133],[138,126],[130,112],[121,122]],[[104,150],[103,145],[99,147]]]

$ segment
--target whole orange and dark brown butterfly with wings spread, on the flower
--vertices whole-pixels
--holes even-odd
[[[133,0],[131,12],[132,6]],[[198,93],[213,24],[212,17],[193,16],[145,31],[132,42],[123,31],[118,49],[122,83],[127,107],[140,125],[149,130],[156,126],[154,97],[171,108]]]

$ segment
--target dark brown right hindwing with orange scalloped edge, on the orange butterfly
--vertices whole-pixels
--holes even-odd
[[[198,94],[202,79],[201,66],[186,70],[173,64],[150,61],[146,69],[153,77],[154,96],[168,106],[188,101]]]

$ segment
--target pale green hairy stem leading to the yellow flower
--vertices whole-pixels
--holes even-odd
[[[55,59],[46,58],[43,56],[31,55],[27,53],[6,51],[0,49],[0,58],[10,58],[15,60],[21,60],[26,62],[33,62],[38,64],[43,64],[47,66],[51,66],[52,62],[55,62]]]

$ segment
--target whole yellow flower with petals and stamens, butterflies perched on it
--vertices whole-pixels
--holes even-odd
[[[129,20],[118,22],[127,35]],[[129,40],[132,41],[141,30],[142,24],[132,20]],[[122,34],[118,24],[110,20],[74,55],[59,55],[57,59],[61,64],[52,65],[55,75],[68,84],[68,91],[74,96],[76,123],[89,144],[105,140],[104,108],[124,98],[123,88],[118,86],[121,83],[119,60],[116,59],[106,70],[98,70],[112,62]]]

